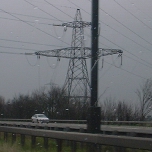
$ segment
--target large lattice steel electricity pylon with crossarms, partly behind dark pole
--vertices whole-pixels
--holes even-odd
[[[35,54],[47,56],[47,57],[70,59],[67,76],[63,88],[68,93],[69,101],[71,99],[77,99],[79,101],[86,102],[90,99],[90,89],[91,89],[86,59],[91,58],[91,48],[85,47],[84,28],[91,26],[91,22],[82,21],[80,9],[77,9],[73,22],[67,22],[55,26],[72,28],[71,47],[39,51],[39,52],[35,52]],[[121,55],[122,51],[119,49],[102,49],[102,48],[99,48],[98,50],[99,58],[100,56],[113,55],[113,54]]]

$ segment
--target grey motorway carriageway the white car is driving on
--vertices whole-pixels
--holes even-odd
[[[24,127],[33,129],[50,129],[58,131],[75,131],[86,132],[86,124],[71,124],[71,123],[32,123],[20,121],[0,121],[1,126],[10,127]],[[136,136],[136,137],[152,137],[152,127],[137,127],[137,126],[114,126],[114,125],[101,125],[102,134],[123,135],[123,136]]]

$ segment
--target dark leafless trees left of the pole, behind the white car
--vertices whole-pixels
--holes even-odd
[[[7,102],[1,96],[0,118],[30,119],[35,113],[44,113],[50,119],[86,119],[88,103],[68,102],[66,97],[59,87],[18,95]]]

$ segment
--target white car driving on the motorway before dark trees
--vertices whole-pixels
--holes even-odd
[[[37,122],[37,123],[49,123],[49,118],[47,118],[44,114],[35,114],[31,117],[32,122]]]

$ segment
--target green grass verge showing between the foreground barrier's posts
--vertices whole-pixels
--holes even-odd
[[[36,146],[34,148],[31,148],[31,137],[26,136],[25,145],[21,146],[20,144],[20,137],[17,136],[16,142],[12,144],[11,141],[11,134],[8,135],[8,141],[4,141],[4,135],[3,133],[0,133],[0,152],[57,152],[57,144],[55,140],[50,139],[49,140],[49,148],[46,150],[43,147],[43,138],[36,138]],[[86,152],[86,145],[82,145],[79,143],[77,148],[77,152]],[[113,147],[111,146],[102,146],[103,152],[114,152]],[[64,142],[63,144],[63,152],[71,152],[70,146],[68,146],[68,142]],[[146,150],[131,150],[127,149],[126,152],[148,152]]]

